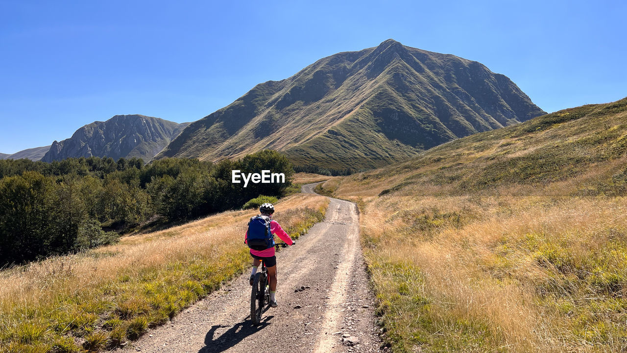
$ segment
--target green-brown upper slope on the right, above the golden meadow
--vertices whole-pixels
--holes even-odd
[[[502,185],[544,185],[594,171],[595,183],[627,188],[625,158],[627,98],[566,109],[516,126],[473,134],[429,149],[411,160],[360,173],[345,183],[364,192],[378,190],[382,194],[411,185],[437,185],[469,192]],[[581,192],[586,192],[586,188],[603,189],[601,184],[582,184]]]

